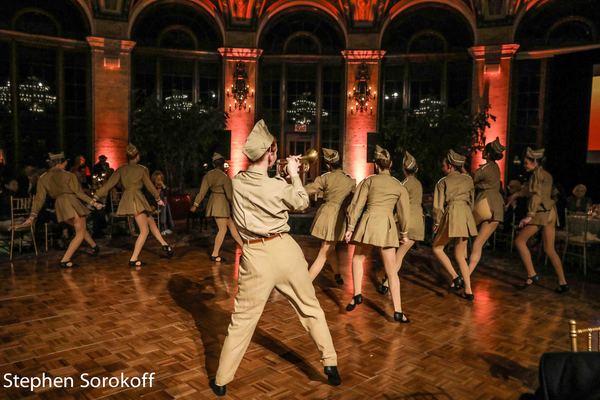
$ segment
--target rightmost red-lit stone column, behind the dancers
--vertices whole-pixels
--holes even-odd
[[[508,147],[508,129],[510,118],[510,73],[512,60],[519,48],[518,44],[501,44],[493,46],[475,46],[469,49],[473,56],[473,111],[477,112],[491,106],[490,113],[496,121],[490,121],[491,127],[485,131],[486,143],[500,138],[500,142]],[[506,158],[498,161],[502,181],[506,172]],[[482,154],[477,152],[471,167],[475,170],[482,163]]]

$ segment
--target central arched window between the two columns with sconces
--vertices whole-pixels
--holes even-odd
[[[289,10],[268,23],[259,47],[264,53],[258,114],[279,137],[283,153],[343,150],[345,41],[338,23],[314,10]]]

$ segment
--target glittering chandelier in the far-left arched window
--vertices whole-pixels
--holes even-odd
[[[11,112],[11,101],[11,85],[7,81],[5,86],[0,86],[0,104]],[[56,103],[56,96],[50,94],[50,86],[32,75],[19,84],[19,103],[30,112],[43,113]]]

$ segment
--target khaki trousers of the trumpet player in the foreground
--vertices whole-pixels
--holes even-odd
[[[287,297],[296,310],[321,352],[323,365],[337,365],[325,313],[315,295],[302,249],[290,235],[282,234],[280,238],[244,245],[235,309],[221,350],[217,385],[233,380],[273,289]]]

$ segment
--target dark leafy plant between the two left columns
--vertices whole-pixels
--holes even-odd
[[[210,160],[227,117],[200,103],[173,110],[151,96],[134,112],[131,142],[151,168],[165,173],[171,187],[181,189]]]

